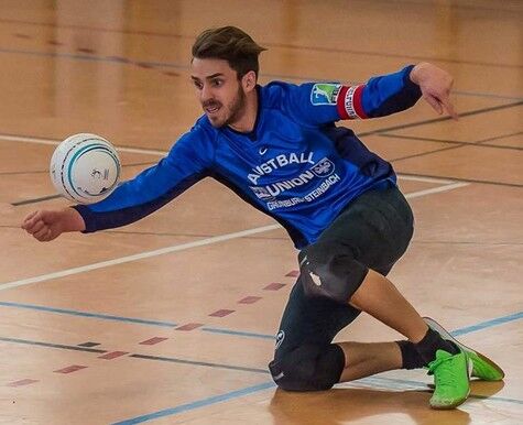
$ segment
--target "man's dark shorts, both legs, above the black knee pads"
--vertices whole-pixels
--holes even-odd
[[[413,235],[413,215],[396,186],[372,189],[350,203],[318,242],[349,249],[364,266],[386,275]],[[283,313],[275,359],[302,344],[328,345],[360,310],[324,297],[307,297],[298,277]]]

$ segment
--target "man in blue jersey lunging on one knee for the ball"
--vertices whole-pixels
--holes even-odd
[[[192,80],[205,111],[155,166],[90,206],[41,210],[22,227],[41,241],[64,231],[128,225],[211,176],[277,220],[296,248],[301,276],[276,338],[271,373],[282,389],[330,389],[392,369],[427,367],[431,406],[451,408],[469,394],[469,363],[500,380],[491,360],[424,322],[385,277],[412,238],[413,217],[391,165],[369,152],[340,119],[373,118],[424,97],[455,116],[450,76],[427,63],[366,85],[257,84],[260,47],[226,26],[193,46]],[[331,344],[363,310],[407,340]]]

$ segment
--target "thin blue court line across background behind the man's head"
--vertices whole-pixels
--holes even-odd
[[[74,53],[57,53],[57,52],[39,52],[39,51],[20,51],[13,48],[0,48],[0,53],[7,54],[19,54],[19,55],[29,55],[29,56],[41,56],[41,57],[57,57],[57,58],[66,58],[66,59],[74,59],[74,61],[88,61],[88,62],[107,62],[113,64],[130,64],[130,65],[138,65],[143,64],[145,66],[151,67],[161,67],[161,68],[176,68],[188,70],[189,67],[187,65],[175,64],[171,62],[149,62],[149,61],[137,61],[130,59],[127,57],[118,57],[118,56],[95,56],[95,55],[80,55]],[[260,73],[260,76],[263,78],[274,78],[274,79],[287,79],[294,81],[334,81],[338,79],[325,79],[318,77],[306,77],[306,76],[294,76],[294,75],[283,75],[283,74],[265,74]],[[353,81],[351,83],[353,84]],[[495,99],[504,99],[504,100],[523,100],[521,96],[505,96],[505,95],[497,95],[497,94],[488,94],[488,92],[475,92],[475,91],[453,91],[454,95],[460,96],[476,96],[476,97],[490,97]]]

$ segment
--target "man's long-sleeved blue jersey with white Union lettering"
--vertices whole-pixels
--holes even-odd
[[[86,232],[128,225],[210,176],[277,220],[296,248],[313,243],[357,196],[395,184],[392,166],[370,152],[340,119],[391,115],[421,97],[408,66],[359,86],[274,81],[258,86],[250,133],[214,128],[206,116],[156,165],[108,198],[75,206]]]

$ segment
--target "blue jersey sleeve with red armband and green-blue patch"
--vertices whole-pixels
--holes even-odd
[[[355,86],[339,83],[281,86],[282,107],[298,122],[316,126],[389,116],[408,109],[422,96],[420,87],[411,81],[412,68],[410,65]]]

